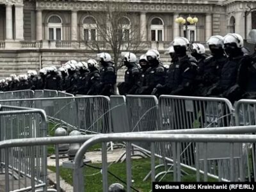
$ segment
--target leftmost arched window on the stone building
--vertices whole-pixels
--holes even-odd
[[[47,26],[49,40],[62,40],[62,21],[59,16],[49,17]]]

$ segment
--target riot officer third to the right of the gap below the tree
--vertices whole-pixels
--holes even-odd
[[[146,72],[146,84],[138,91],[140,95],[154,95],[154,88],[157,84],[164,84],[164,67],[161,63],[160,54],[156,49],[150,49],[146,52],[149,68]]]

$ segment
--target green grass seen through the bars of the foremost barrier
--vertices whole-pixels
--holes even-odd
[[[90,164],[92,166],[97,166],[100,168],[101,164]],[[55,167],[49,166],[49,169],[55,172]],[[161,168],[156,171],[156,174],[163,171],[164,168]],[[108,171],[119,177],[120,179],[126,182],[126,169],[125,169],[125,162],[124,163],[113,163],[109,166]],[[151,178],[147,181],[143,182],[144,177],[150,171],[150,159],[132,159],[132,186],[136,188],[138,191],[150,191],[151,189]],[[84,189],[86,191],[102,191],[102,175],[99,173],[100,170],[95,168],[90,168],[88,166],[84,166]],[[186,170],[189,175],[183,175],[182,181],[196,181],[196,173],[190,170]],[[64,179],[68,184],[72,185],[72,170],[67,168],[60,168],[60,175],[62,179]],[[159,177],[161,178],[161,177]],[[201,177],[203,180],[203,175]],[[164,177],[161,181],[173,181],[173,175],[168,174]],[[209,181],[217,181],[214,179],[209,178]],[[120,182],[120,180],[113,177],[113,175],[108,174],[108,182],[109,185],[114,182]],[[125,184],[123,184],[125,186]]]

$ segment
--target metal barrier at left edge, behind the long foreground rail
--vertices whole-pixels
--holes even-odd
[[[1,106],[0,141],[47,136],[46,115],[42,109]],[[5,191],[26,191],[47,184],[45,146],[15,147],[0,150],[0,175],[6,180]],[[1,190],[0,190],[1,191]]]

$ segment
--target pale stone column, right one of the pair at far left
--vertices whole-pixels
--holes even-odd
[[[15,39],[16,40],[24,40],[23,5],[15,5]]]

